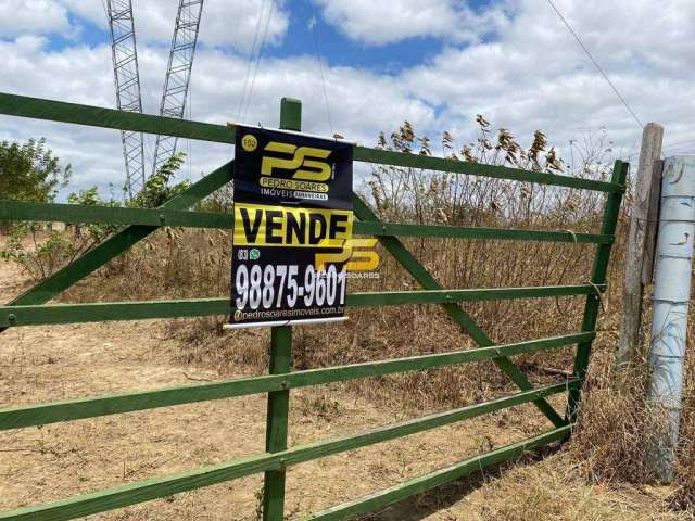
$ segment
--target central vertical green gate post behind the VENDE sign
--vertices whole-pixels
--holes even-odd
[[[280,102],[280,128],[302,129],[302,103],[282,98]],[[292,368],[292,328],[280,326],[270,332],[270,374],[290,372]],[[268,393],[265,450],[279,453],[287,448],[287,427],[290,411],[290,392]],[[263,486],[263,521],[282,521],[285,518],[285,469],[265,473]]]

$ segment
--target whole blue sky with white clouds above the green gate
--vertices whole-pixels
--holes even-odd
[[[178,2],[132,2],[143,105],[155,112]],[[190,117],[222,124],[240,117],[258,13],[269,3],[205,0]],[[694,2],[555,3],[640,119],[664,124],[667,144],[684,142],[668,150],[692,150],[695,97],[686,64],[695,48],[686,43],[695,38]],[[611,143],[609,155],[635,158],[640,126],[545,1],[276,0],[268,28],[250,81],[251,123],[277,125],[279,99],[290,96],[304,102],[307,131],[339,131],[367,144],[407,119],[434,142],[447,130],[463,145],[475,138],[476,115],[484,114],[522,144],[542,129],[566,157],[603,139]],[[115,104],[101,0],[3,0],[0,52],[0,91]],[[38,136],[73,164],[74,189],[122,183],[118,132],[0,116],[0,139]],[[189,177],[231,155],[219,145],[181,147],[190,152]]]

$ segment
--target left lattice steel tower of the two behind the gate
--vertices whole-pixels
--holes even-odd
[[[140,72],[135,40],[131,0],[106,0],[111,30],[111,53],[116,84],[116,106],[126,112],[142,112]],[[122,130],[126,163],[125,190],[128,198],[144,186],[144,145],[142,132]]]

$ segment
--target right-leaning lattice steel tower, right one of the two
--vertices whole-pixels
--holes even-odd
[[[203,0],[179,0],[160,115],[182,118],[193,67]],[[178,138],[157,136],[152,173],[176,152]]]

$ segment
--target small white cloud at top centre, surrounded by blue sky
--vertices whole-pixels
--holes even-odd
[[[498,8],[479,14],[467,2],[456,0],[315,0],[315,3],[329,24],[367,45],[424,36],[471,40],[497,30],[505,22]]]

